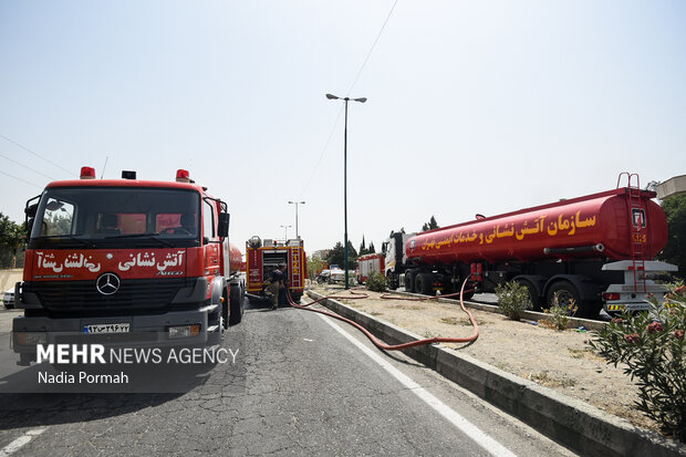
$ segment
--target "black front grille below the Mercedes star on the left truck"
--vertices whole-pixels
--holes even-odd
[[[103,295],[95,281],[24,282],[22,291],[35,293],[51,311],[96,311],[157,309],[169,305],[176,292],[186,287],[186,279],[122,280],[112,295]]]

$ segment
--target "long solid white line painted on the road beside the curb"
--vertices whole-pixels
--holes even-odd
[[[388,374],[395,377],[401,384],[407,387],[410,392],[422,398],[427,405],[434,408],[438,414],[448,419],[450,424],[457,427],[460,432],[471,438],[477,445],[481,446],[487,453],[498,456],[498,457],[514,457],[516,454],[511,453],[508,448],[502,446],[500,443],[488,436],[476,425],[471,424],[469,420],[460,416],[455,409],[450,406],[443,403],[440,399],[435,397],[433,394],[427,392],[424,387],[413,381],[410,377],[405,375],[403,372],[397,370],[391,363],[385,361],[381,355],[376,352],[372,351],[360,341],[355,340],[347,332],[342,330],[340,326],[333,323],[330,318],[325,315],[318,314],[320,318],[324,320],[329,325],[335,329],[336,332],[345,336],[351,343],[353,343],[360,351],[365,353],[370,359],[376,362],[382,368],[384,368]]]

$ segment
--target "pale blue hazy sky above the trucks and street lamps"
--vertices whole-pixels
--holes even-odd
[[[241,248],[293,236],[294,199],[308,250],[332,247],[328,92],[368,98],[349,113],[355,247],[686,173],[683,1],[399,0],[356,77],[393,6],[0,0],[0,135],[59,165],[0,137],[0,211],[20,221],[48,181],[106,159],[111,178],[190,169]]]

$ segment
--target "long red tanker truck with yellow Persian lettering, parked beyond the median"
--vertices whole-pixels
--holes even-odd
[[[622,177],[622,176],[621,176]],[[635,177],[636,186],[632,186]],[[654,261],[667,242],[667,220],[641,190],[637,175],[627,187],[521,209],[425,231],[392,233],[386,276],[409,292],[459,291],[468,279],[476,292],[517,281],[529,289],[534,309],[572,300],[578,315],[645,310],[666,288],[656,272],[676,267]],[[402,247],[402,248],[401,248]],[[474,293],[474,292],[472,292]]]

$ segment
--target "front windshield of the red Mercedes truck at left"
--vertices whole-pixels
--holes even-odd
[[[200,196],[186,189],[55,187],[41,196],[30,245],[199,246]]]

